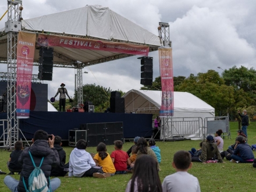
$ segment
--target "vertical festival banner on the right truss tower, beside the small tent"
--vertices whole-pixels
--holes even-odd
[[[162,104],[159,116],[173,116],[172,48],[159,47],[158,53],[162,86]]]

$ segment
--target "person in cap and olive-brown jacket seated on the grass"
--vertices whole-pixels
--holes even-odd
[[[219,163],[223,163],[218,147],[214,142],[214,137],[207,136],[207,140],[202,143],[201,155],[199,157],[192,157],[192,161],[206,163],[208,160],[215,160],[215,157],[218,158]]]

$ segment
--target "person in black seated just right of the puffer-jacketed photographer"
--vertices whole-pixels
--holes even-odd
[[[61,147],[62,143],[61,143],[61,137],[60,136],[55,136],[54,138],[54,147],[56,148],[56,150],[58,151],[59,154],[59,166],[56,166],[55,168],[52,167],[51,170],[51,176],[55,176],[55,177],[63,177],[66,175],[66,173],[68,172],[69,169],[69,163],[66,163],[66,152],[63,150],[63,148]]]

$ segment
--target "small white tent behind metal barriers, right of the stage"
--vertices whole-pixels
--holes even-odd
[[[159,113],[161,91],[130,90],[125,98],[127,113]],[[215,109],[186,92],[174,92],[174,113],[172,117],[162,117],[161,139],[186,137],[204,138],[204,119],[214,120]]]

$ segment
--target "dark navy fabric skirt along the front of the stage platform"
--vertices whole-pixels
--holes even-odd
[[[7,119],[7,113],[0,113],[0,119]],[[79,129],[84,123],[123,122],[125,138],[150,137],[152,135],[152,114],[136,113],[79,113],[31,111],[29,119],[20,119],[20,130],[27,140],[33,138],[36,130],[69,139],[69,130]],[[0,128],[0,136],[3,130]],[[20,134],[20,138],[23,136]]]

